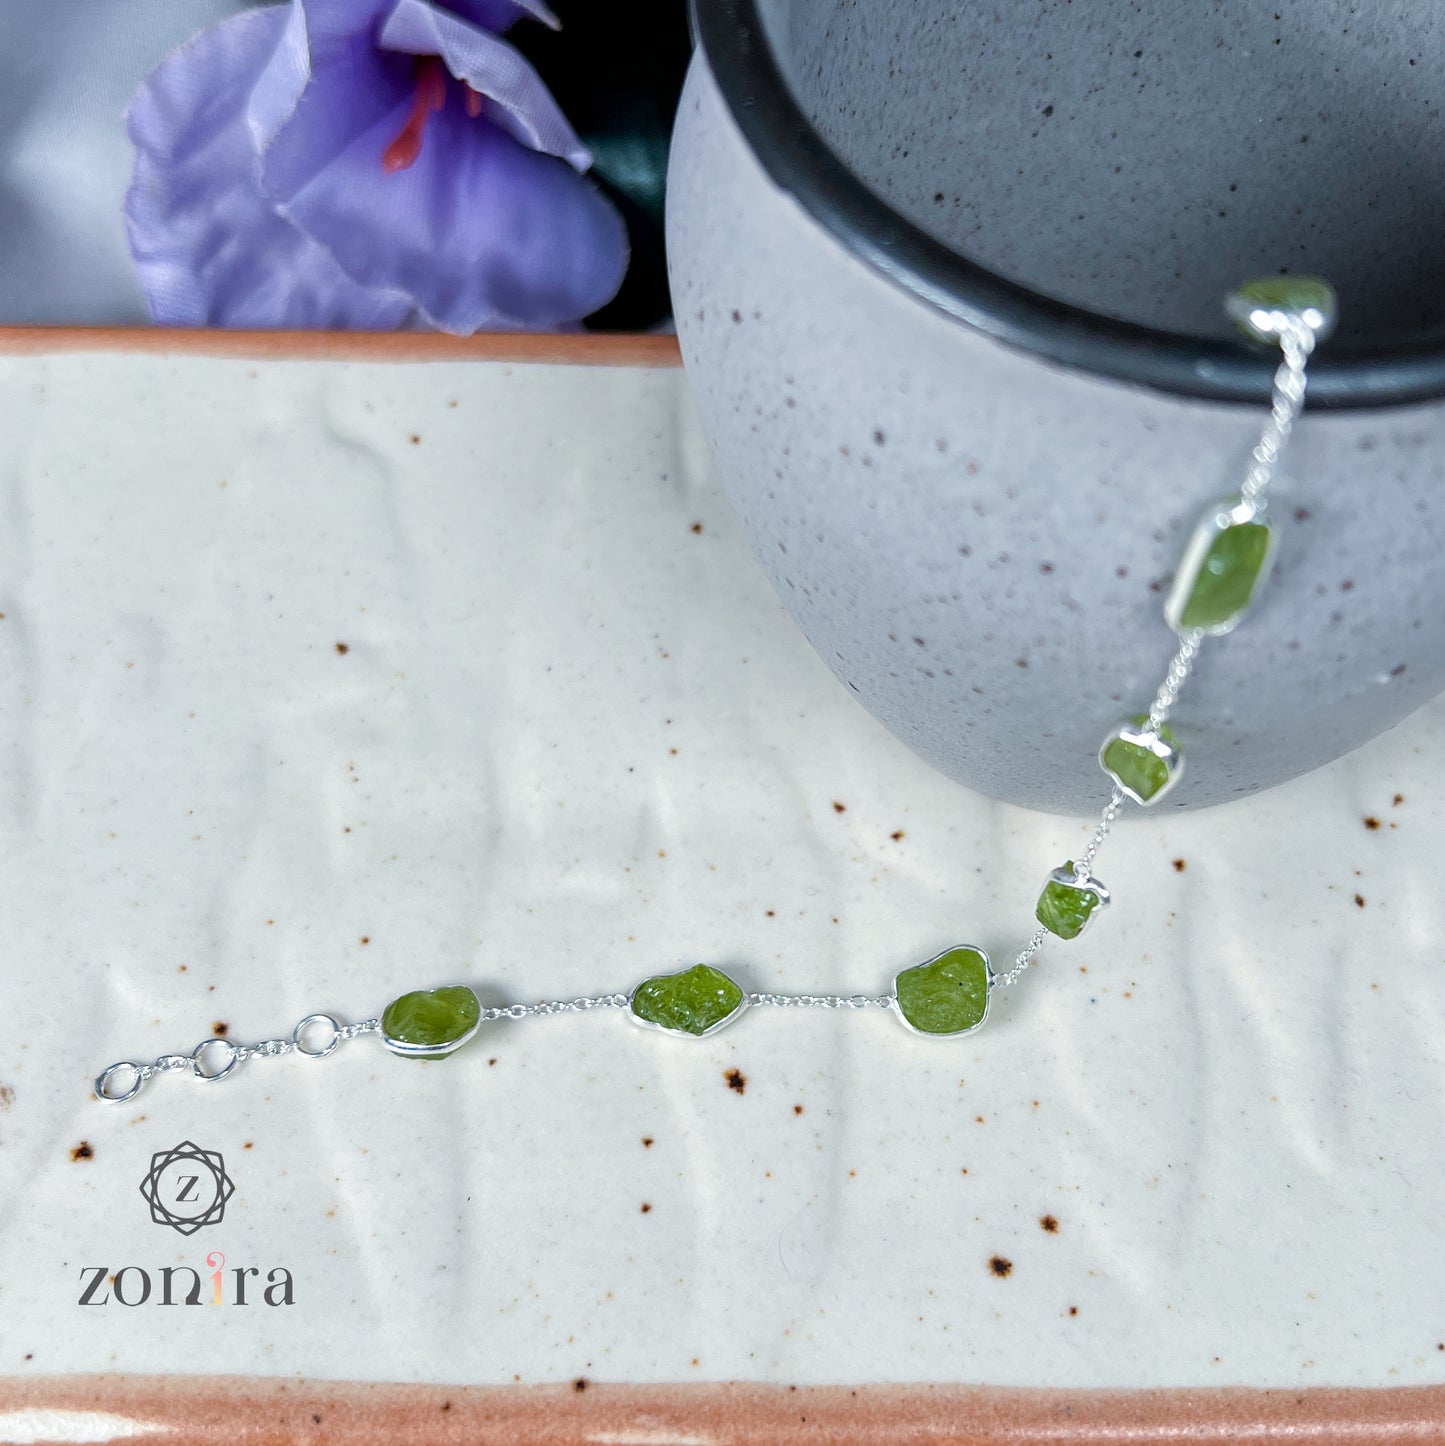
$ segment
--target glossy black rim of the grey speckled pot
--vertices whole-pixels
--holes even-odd
[[[900,215],[837,158],[803,114],[768,43],[756,0],[693,0],[707,64],[772,181],[859,260],[946,317],[1080,372],[1180,396],[1258,402],[1274,356],[1238,343],[1157,331],[1054,301],[986,270]],[[1445,348],[1323,347],[1309,369],[1313,406],[1390,406],[1445,396]]]

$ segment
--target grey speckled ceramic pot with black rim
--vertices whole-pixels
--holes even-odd
[[[943,772],[1094,813],[1270,359],[1335,282],[1279,562],[1160,804],[1282,782],[1445,685],[1445,20],[1429,7],[699,0],[670,254],[722,477],[837,677]]]

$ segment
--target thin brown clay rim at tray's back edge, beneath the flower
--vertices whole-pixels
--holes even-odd
[[[632,333],[534,335],[489,331],[213,331],[184,327],[0,327],[0,356],[129,351],[265,362],[518,362],[553,366],[678,366],[677,337]]]

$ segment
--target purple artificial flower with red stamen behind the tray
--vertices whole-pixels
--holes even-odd
[[[541,0],[291,0],[166,56],[130,106],[130,252],[171,325],[472,333],[610,299],[592,158],[498,32]]]

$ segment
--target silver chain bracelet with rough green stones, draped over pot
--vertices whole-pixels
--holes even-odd
[[[393,999],[385,1011],[360,1024],[343,1024],[330,1014],[308,1014],[288,1038],[236,1044],[203,1040],[189,1054],[162,1054],[149,1064],[120,1060],[95,1079],[95,1098],[124,1103],[153,1076],[189,1070],[198,1080],[227,1079],[246,1060],[298,1053],[324,1060],[344,1040],[380,1035],[393,1054],[412,1060],[446,1058],[460,1050],[483,1024],[532,1015],[586,1009],[626,1009],[634,1024],[684,1038],[704,1038],[729,1025],[743,1011],[772,1005],[811,1009],[890,1009],[916,1034],[958,1038],[988,1018],[995,989],[1018,980],[1043,941],[1078,938],[1109,902],[1109,891],[1094,875],[1099,849],[1124,804],[1157,804],[1179,781],[1185,756],[1169,726],[1179,693],[1205,638],[1218,638],[1240,623],[1269,576],[1279,529],[1267,513],[1270,482],[1280,454],[1305,405],[1305,369],[1315,343],[1335,322],[1335,295],[1318,279],[1279,276],[1250,282],[1225,302],[1229,317],[1253,340],[1276,346],[1270,415],[1254,447],[1237,493],[1211,505],[1185,547],[1175,583],[1164,602],[1164,620],[1179,639],[1164,680],[1147,713],[1120,724],[1099,746],[1099,766],[1112,791],[1088,847],[1078,859],[1054,869],[1039,895],[1039,927],[1007,969],[995,970],[975,944],[958,944],[934,959],[894,976],[888,993],[816,995],[751,993],[713,964],[693,964],[644,979],[628,993],[586,995],[483,1008],[466,985],[421,989]]]

